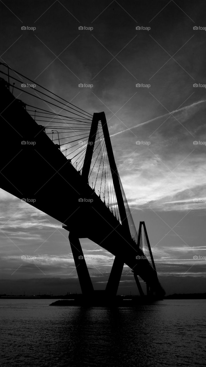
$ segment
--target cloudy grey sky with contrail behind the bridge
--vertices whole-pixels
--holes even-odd
[[[205,292],[205,1],[8,0],[0,11],[1,62],[105,112],[136,228],[145,221],[166,294]],[[61,223],[1,189],[0,226],[0,293],[80,292]],[[104,289],[113,255],[81,244],[94,288]],[[138,294],[127,266],[118,292]]]

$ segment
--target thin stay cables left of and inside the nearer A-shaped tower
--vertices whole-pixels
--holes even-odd
[[[90,143],[92,114],[77,107],[22,73],[0,63],[0,75],[8,89],[25,103],[26,111],[44,129],[76,170],[81,174],[87,145]],[[88,184],[121,222],[111,178],[102,126],[98,126],[89,170]]]

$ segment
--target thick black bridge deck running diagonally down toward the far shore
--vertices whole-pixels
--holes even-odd
[[[0,187],[19,199],[35,199],[30,204],[76,233],[118,255],[144,281],[162,293],[157,273],[143,252],[125,236],[122,225],[93,192],[80,173],[60,152],[0,80],[1,144]],[[35,142],[35,145],[22,144]],[[80,202],[79,199],[92,199]]]

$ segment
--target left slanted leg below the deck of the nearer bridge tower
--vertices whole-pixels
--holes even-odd
[[[80,287],[83,295],[91,295],[93,293],[92,281],[84,259],[80,240],[74,233],[69,233],[69,242],[74,257],[74,263],[77,269],[77,275],[80,281]]]

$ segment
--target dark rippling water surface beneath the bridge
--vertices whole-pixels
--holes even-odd
[[[205,366],[206,300],[136,308],[0,299],[1,366]]]

